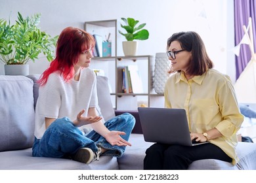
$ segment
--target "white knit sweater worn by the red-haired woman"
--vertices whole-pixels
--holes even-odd
[[[79,81],[65,82],[58,72],[49,75],[47,84],[39,88],[39,96],[35,108],[35,137],[41,139],[45,133],[45,118],[68,117],[74,121],[77,114],[85,109],[87,116],[89,107],[97,107],[96,76],[89,69],[81,69]],[[87,131],[91,130],[90,125]]]

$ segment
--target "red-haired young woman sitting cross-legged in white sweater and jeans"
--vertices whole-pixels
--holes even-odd
[[[33,156],[91,163],[100,154],[121,157],[131,146],[135,118],[125,113],[103,123],[96,110],[96,75],[89,69],[94,46],[82,29],[60,33],[56,58],[39,79]]]

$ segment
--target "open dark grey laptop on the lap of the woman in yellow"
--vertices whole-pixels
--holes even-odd
[[[191,141],[186,110],[183,108],[139,107],[138,111],[146,142],[184,146],[207,143]]]

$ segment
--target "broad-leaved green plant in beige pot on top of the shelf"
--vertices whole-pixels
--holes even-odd
[[[138,20],[133,18],[121,18],[125,25],[121,24],[121,27],[127,31],[127,33],[123,33],[119,31],[121,35],[125,37],[127,41],[123,41],[123,53],[125,56],[135,56],[137,53],[137,45],[138,42],[134,40],[146,40],[148,39],[149,33],[148,30],[142,29],[146,24],[140,24]],[[137,26],[137,27],[135,27]]]

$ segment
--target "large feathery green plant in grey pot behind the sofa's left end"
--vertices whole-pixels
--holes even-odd
[[[10,20],[0,19],[0,59],[5,64],[5,75],[28,75],[28,61],[35,62],[43,53],[48,61],[53,54],[58,36],[51,37],[39,28],[41,14],[23,18],[18,12],[18,20],[11,25]],[[17,73],[11,73],[11,70]],[[13,69],[12,67],[15,67]],[[17,67],[25,67],[18,71]]]

